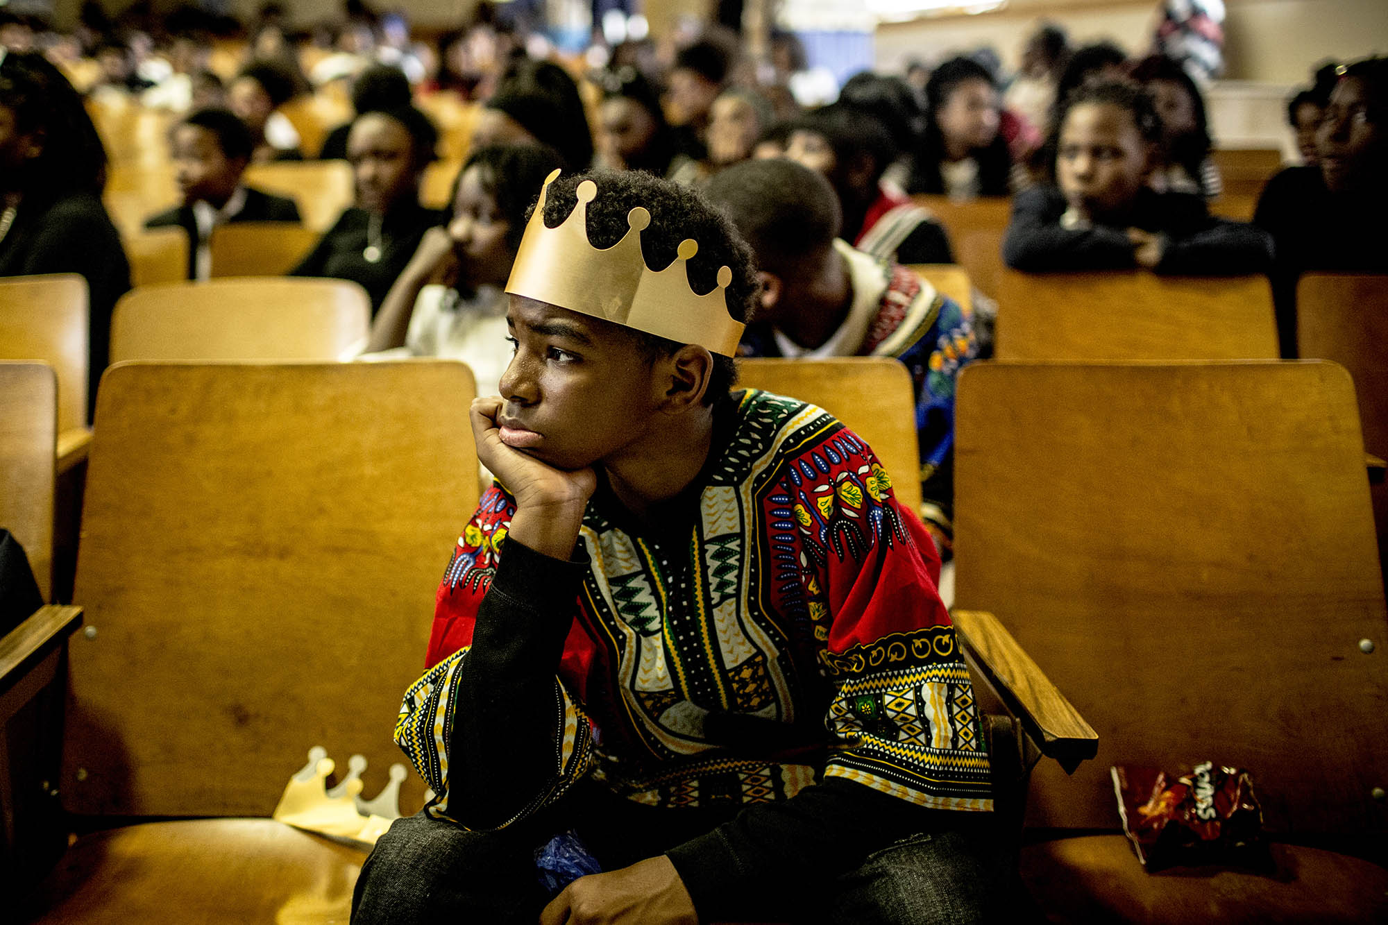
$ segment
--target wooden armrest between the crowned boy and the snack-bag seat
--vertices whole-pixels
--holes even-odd
[[[1098,733],[997,617],[981,610],[956,610],[951,617],[979,671],[1041,754],[1053,758],[1067,774],[1098,754]]]

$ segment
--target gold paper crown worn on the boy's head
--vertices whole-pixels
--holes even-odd
[[[579,201],[564,224],[545,228],[544,203],[558,175],[554,171],[544,179],[507,292],[736,356],[744,325],[727,314],[723,296],[733,271],[722,267],[713,290],[697,294],[686,269],[686,262],[698,253],[694,239],[680,242],[679,256],[665,269],[648,268],[641,256],[641,231],[651,224],[651,214],[640,206],[627,212],[629,231],[622,240],[607,250],[594,247],[587,232],[587,206],[598,194],[593,181],[579,183]]]

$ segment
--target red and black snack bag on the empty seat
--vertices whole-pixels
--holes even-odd
[[[1181,776],[1141,767],[1112,772],[1123,832],[1149,872],[1177,864],[1270,865],[1248,771],[1206,761]]]

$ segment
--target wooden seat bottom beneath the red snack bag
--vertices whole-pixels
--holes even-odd
[[[1214,867],[1148,874],[1122,835],[1031,844],[1022,879],[1051,921],[1382,922],[1388,871],[1319,849],[1274,844],[1274,876]]]

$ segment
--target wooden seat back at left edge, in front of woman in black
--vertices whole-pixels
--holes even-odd
[[[86,426],[87,285],[78,274],[0,279],[0,360],[42,360],[58,375],[58,429]]]

